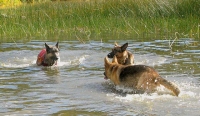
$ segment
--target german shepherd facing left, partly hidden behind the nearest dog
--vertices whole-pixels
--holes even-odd
[[[126,50],[127,47],[128,47],[128,43],[125,43],[122,46],[119,46],[117,43],[115,43],[115,46],[112,49],[112,52],[110,52],[107,55],[108,58],[113,58],[114,56],[116,56],[119,64],[133,65],[134,64],[134,56],[132,53],[130,53],[129,51]]]

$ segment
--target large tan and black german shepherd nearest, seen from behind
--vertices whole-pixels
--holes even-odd
[[[110,79],[115,85],[133,88],[136,92],[154,92],[156,87],[163,85],[178,96],[180,90],[176,85],[162,78],[152,67],[146,65],[121,65],[117,57],[113,57],[112,63],[105,62],[105,79]]]

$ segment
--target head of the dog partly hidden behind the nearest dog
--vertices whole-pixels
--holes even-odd
[[[112,52],[107,55],[108,58],[113,58],[115,55],[116,57],[123,57],[123,53],[126,51],[127,47],[128,43],[125,43],[122,46],[119,46],[117,43],[115,43],[115,47],[112,49]]]

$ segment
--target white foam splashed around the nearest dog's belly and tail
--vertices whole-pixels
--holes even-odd
[[[108,84],[112,84],[108,83]],[[200,94],[198,93],[198,89],[199,87],[197,87],[194,83],[192,82],[188,82],[188,83],[184,83],[181,82],[179,84],[177,84],[177,86],[180,89],[180,94],[178,97],[174,96],[173,93],[171,91],[169,91],[168,89],[166,89],[163,86],[159,86],[157,87],[157,90],[154,93],[144,93],[144,94],[126,94],[126,92],[130,93],[133,92],[133,89],[130,88],[125,88],[123,86],[108,86],[111,87],[115,90],[117,90],[118,92],[115,93],[107,93],[106,95],[111,98],[111,100],[119,100],[119,101],[123,101],[123,102],[130,102],[130,101],[138,101],[138,102],[144,102],[144,101],[148,101],[148,100],[170,100],[170,99],[181,99],[181,100],[185,100],[185,99],[200,99]],[[197,91],[197,92],[195,92]]]

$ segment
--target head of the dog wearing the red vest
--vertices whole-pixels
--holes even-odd
[[[57,61],[60,58],[58,42],[56,43],[55,46],[49,46],[45,43],[45,48],[46,48],[46,55],[44,63],[48,64],[48,66],[57,64]]]

